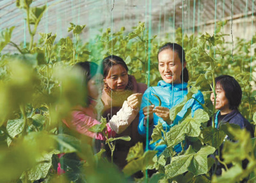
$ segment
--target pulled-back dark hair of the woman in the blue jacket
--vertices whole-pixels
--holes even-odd
[[[166,43],[162,47],[160,47],[159,51],[157,52],[157,60],[158,60],[159,53],[166,49],[170,49],[174,52],[177,52],[177,54],[180,58],[180,62],[182,64],[186,63],[184,49],[182,48],[182,46],[180,46],[179,44],[175,44],[175,43]],[[181,79],[181,81],[183,79],[184,82],[188,83],[189,76],[188,76],[188,69],[186,67],[183,69],[180,79]]]

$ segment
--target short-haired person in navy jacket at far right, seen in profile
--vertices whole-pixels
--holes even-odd
[[[216,106],[215,109],[217,109],[217,113],[214,115],[214,125],[215,128],[219,129],[221,125],[225,123],[230,124],[236,124],[239,125],[241,129],[246,129],[248,132],[250,132],[252,138],[253,138],[253,128],[251,123],[244,118],[243,115],[238,111],[239,104],[241,103],[242,99],[242,90],[239,83],[234,79],[232,76],[228,75],[222,75],[215,78],[215,92],[216,92]],[[211,93],[211,102],[214,105],[214,93]],[[207,123],[207,126],[212,125],[212,118]],[[226,139],[230,138],[227,136]],[[220,153],[223,148],[223,143],[220,146]],[[214,153],[215,155],[218,155],[218,152],[216,151]],[[222,159],[222,155],[220,154],[220,159]],[[248,160],[244,159],[242,162],[243,168],[246,168],[248,164]],[[227,164],[227,167],[230,168],[232,164]],[[225,166],[223,164],[219,163],[217,164],[216,168],[216,175],[221,175],[222,170],[225,169]],[[210,171],[211,172],[211,171]],[[247,182],[246,179],[242,180],[241,182]]]

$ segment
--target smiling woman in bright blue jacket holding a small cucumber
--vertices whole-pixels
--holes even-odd
[[[188,93],[187,82],[189,78],[186,68],[185,52],[180,45],[167,43],[159,49],[157,59],[158,69],[163,80],[159,81],[157,86],[149,87],[143,94],[138,125],[138,132],[146,137],[147,125],[145,122],[148,120],[148,144],[151,140],[154,125],[157,125],[158,122],[162,123],[164,131],[169,131],[173,125],[179,123],[189,107],[191,107],[192,116],[196,109],[202,108],[195,99],[204,104],[202,93],[196,93],[193,96],[195,99],[188,100],[182,110],[177,114],[175,120],[170,122],[170,109],[182,102]],[[159,106],[159,100],[153,94],[161,99],[161,106]],[[152,102],[152,105],[150,105],[148,99]],[[166,145],[156,146],[158,142],[148,145],[148,149],[158,150],[157,154],[159,155],[166,148]],[[182,150],[180,144],[173,148],[176,152]]]

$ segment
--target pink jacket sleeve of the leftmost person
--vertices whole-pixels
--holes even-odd
[[[90,129],[90,127],[92,127],[93,125],[97,125],[100,122],[84,114],[83,111],[73,111],[72,121],[70,123],[71,127],[76,129],[76,131],[81,134],[95,139],[106,140],[102,133],[91,132],[88,130]],[[115,136],[115,132],[111,130],[108,124],[106,132],[108,132],[108,136]]]

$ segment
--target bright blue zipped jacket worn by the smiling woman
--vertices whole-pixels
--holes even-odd
[[[188,93],[187,86],[188,86],[188,83],[183,83],[183,84],[172,84],[171,83],[171,84],[169,84],[169,83],[165,83],[163,80],[161,80],[158,82],[157,86],[149,87],[146,90],[146,92],[143,94],[143,97],[142,97],[142,102],[141,102],[141,106],[140,106],[140,118],[139,118],[139,125],[138,125],[138,132],[142,136],[146,136],[146,133],[147,133],[147,127],[144,125],[144,117],[145,116],[143,115],[143,111],[142,111],[143,107],[150,106],[150,103],[148,102],[147,99],[149,99],[155,106],[159,106],[158,99],[155,96],[152,96],[152,93],[156,94],[161,99],[162,107],[168,107],[169,109],[172,109],[172,107],[174,107],[177,104],[179,104],[180,102],[182,102],[184,97],[187,95],[187,93]],[[197,99],[198,101],[200,101],[202,104],[204,104],[204,96],[202,95],[202,93],[200,91],[198,91],[198,93],[194,94],[193,97],[195,99]],[[179,123],[179,121],[184,117],[184,115],[186,114],[186,111],[189,109],[189,107],[191,107],[192,116],[194,115],[196,109],[202,108],[202,106],[200,106],[200,104],[198,104],[198,102],[196,102],[195,99],[188,100],[188,102],[184,105],[182,110],[177,114],[172,125],[168,125],[168,123],[166,123],[163,120],[163,118],[160,118],[159,116],[157,116],[154,113],[154,120],[153,120],[154,125],[157,125],[157,123],[159,121],[163,124],[164,131],[166,131],[166,132],[170,131],[170,128],[173,127],[173,125],[177,125],[177,123]],[[148,135],[150,137],[148,139],[148,144],[151,140],[151,134],[153,132],[154,125],[152,125],[151,127],[148,128]],[[158,142],[159,141],[157,141],[156,143],[152,143],[151,145],[148,145],[148,149],[158,150],[157,154],[159,155],[166,148],[166,145],[156,146],[156,144]],[[174,150],[176,152],[180,152],[182,150],[180,144],[176,145],[174,147]]]

